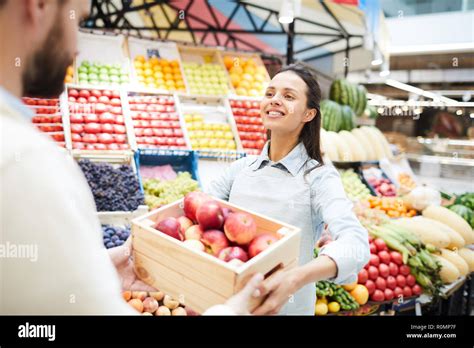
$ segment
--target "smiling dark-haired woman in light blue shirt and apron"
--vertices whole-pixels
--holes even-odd
[[[352,213],[337,170],[320,150],[321,90],[312,69],[283,68],[260,104],[270,140],[259,156],[240,159],[210,185],[210,194],[301,228],[299,265],[267,278],[268,296],[253,313],[314,315],[315,282],[351,283],[369,260],[367,231]],[[313,259],[324,224],[333,242]]]

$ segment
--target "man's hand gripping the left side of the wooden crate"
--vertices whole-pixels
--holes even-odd
[[[129,237],[127,241],[121,246],[108,249],[110,259],[117,269],[117,273],[122,283],[122,290],[130,291],[157,291],[152,286],[142,282],[137,278],[132,255],[132,238]]]

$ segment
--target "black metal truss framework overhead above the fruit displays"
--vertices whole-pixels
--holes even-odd
[[[120,30],[120,31],[135,30],[139,37],[141,36],[140,31],[149,30],[149,31],[156,32],[158,38],[163,39],[163,40],[168,39],[170,33],[173,31],[187,31],[187,32],[190,32],[193,43],[195,45],[204,44],[204,41],[206,40],[206,38],[209,35],[212,35],[217,46],[237,49],[237,43],[239,43],[240,45],[248,47],[250,51],[257,51],[257,52],[261,52],[260,48],[255,46],[248,40],[242,38],[243,34],[285,35],[287,37],[287,63],[288,64],[294,61],[295,54],[308,52],[316,48],[324,47],[326,45],[339,42],[341,40],[345,40],[346,42],[345,49],[339,50],[336,52],[328,52],[324,54],[314,55],[314,56],[304,59],[304,61],[310,62],[312,60],[316,60],[316,59],[320,59],[320,58],[330,56],[336,53],[344,52],[346,62],[349,62],[350,50],[356,49],[362,46],[362,45],[357,45],[353,47],[350,46],[351,38],[354,38],[354,37],[360,38],[362,37],[362,35],[352,35],[348,33],[348,31],[344,28],[342,23],[338,20],[335,14],[327,6],[324,0],[319,0],[319,2],[321,3],[324,11],[328,13],[331,16],[331,18],[334,20],[336,26],[329,26],[329,25],[318,23],[318,22],[308,20],[305,18],[296,17],[294,21],[288,25],[288,29],[285,29],[283,24],[278,22],[278,11],[275,11],[263,6],[259,6],[253,3],[248,3],[246,1],[232,0],[232,2],[235,4],[235,7],[232,10],[229,17],[226,19],[224,24],[218,21],[217,16],[214,12],[214,9],[208,0],[203,0],[202,2],[199,2],[199,3],[200,4],[204,3],[205,7],[211,14],[211,17],[212,17],[211,21],[204,20],[192,14],[189,11],[189,9],[193,6],[193,3],[196,4],[197,2],[194,2],[193,0],[182,0],[181,2],[183,3],[185,1],[187,1],[187,3],[183,9],[176,5],[176,1],[165,1],[165,0],[156,0],[153,2],[144,1],[143,4],[132,5],[131,0],[122,0],[121,1],[122,7],[119,8],[117,7],[116,4],[114,4],[113,2],[109,0],[92,0],[91,15],[83,23],[83,27],[87,29],[108,29],[108,30]],[[175,18],[169,17],[168,13],[166,12],[164,8],[165,5],[176,11]],[[151,13],[152,8],[154,10],[159,9],[160,11],[162,11],[164,17],[166,18],[166,22],[167,22],[166,25],[161,25],[161,26],[157,25]],[[254,20],[255,15],[250,11],[250,9],[256,9],[259,11],[266,12],[265,20],[263,21],[261,25],[257,26]],[[152,26],[137,27],[137,26],[132,25],[130,21],[127,19],[126,15],[131,12],[136,12],[136,11],[145,11],[145,13],[147,13],[150,17]],[[182,11],[184,11],[185,16],[182,16],[183,18],[180,18],[179,14],[182,13]],[[229,28],[229,24],[231,23],[232,19],[235,17],[235,15],[239,11],[244,11],[244,13],[246,14],[246,18],[248,19],[248,24],[250,24],[252,28],[251,30]],[[279,24],[278,30],[268,28],[268,23],[272,17],[274,17],[276,19],[276,22]],[[193,21],[203,25],[204,27],[193,28],[190,25],[189,19],[192,19]],[[181,20],[184,20],[187,28],[180,27]],[[295,26],[298,23],[310,24],[314,26],[315,29],[308,32],[297,32],[295,31]],[[332,30],[334,31],[334,33],[320,32],[318,31],[319,28]],[[162,32],[165,33],[164,36],[162,35]],[[198,40],[195,33],[203,33],[204,35],[202,35],[200,40]],[[219,36],[217,35],[218,33],[224,34],[227,36],[225,41],[222,41],[219,39]],[[310,36],[310,37],[328,37],[328,40],[317,45],[310,45],[303,49],[294,51],[293,42],[296,35]],[[346,76],[348,73],[348,69],[349,69],[349,64],[345,64]]]

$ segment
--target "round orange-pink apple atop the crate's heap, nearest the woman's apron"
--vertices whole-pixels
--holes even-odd
[[[253,217],[247,213],[232,213],[225,221],[224,232],[230,241],[245,245],[255,238],[257,224]]]

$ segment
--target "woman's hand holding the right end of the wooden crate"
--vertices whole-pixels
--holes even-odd
[[[252,314],[278,314],[288,302],[290,296],[300,288],[297,270],[298,268],[282,268],[265,279],[258,290],[260,291],[260,296],[268,295],[268,297]]]

